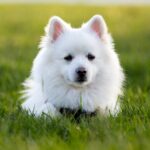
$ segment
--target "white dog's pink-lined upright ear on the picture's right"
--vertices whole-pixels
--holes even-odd
[[[107,25],[103,17],[100,15],[93,16],[87,23],[83,25],[83,28],[93,31],[101,39],[103,39],[105,34],[108,32]]]

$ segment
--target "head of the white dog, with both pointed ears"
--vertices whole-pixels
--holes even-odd
[[[105,63],[107,35],[107,26],[99,15],[78,29],[71,28],[59,17],[52,17],[46,27],[51,67],[71,86],[92,83]]]

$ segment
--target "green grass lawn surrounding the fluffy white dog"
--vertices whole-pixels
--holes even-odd
[[[126,73],[122,112],[80,123],[28,116],[18,107],[19,91],[49,17],[79,27],[96,13],[105,17]],[[0,149],[150,149],[150,6],[1,5]]]

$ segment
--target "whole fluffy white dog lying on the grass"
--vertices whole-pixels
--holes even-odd
[[[59,17],[45,28],[40,52],[24,83],[22,107],[36,115],[60,108],[107,115],[119,111],[124,74],[102,16],[74,29]]]

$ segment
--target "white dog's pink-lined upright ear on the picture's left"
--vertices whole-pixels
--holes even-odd
[[[53,16],[50,18],[45,31],[50,36],[51,42],[55,42],[68,28],[69,25],[66,22],[57,16]]]

